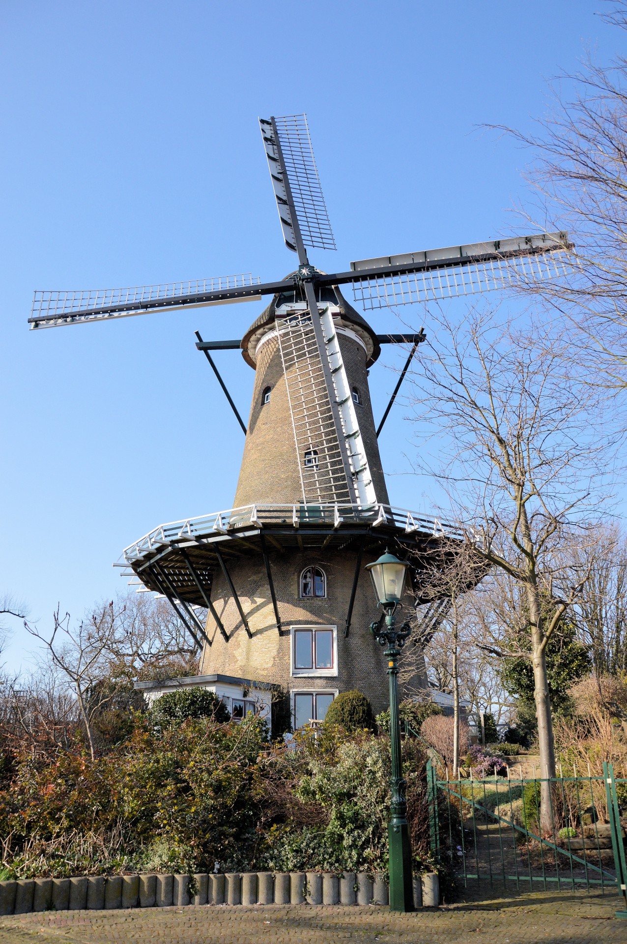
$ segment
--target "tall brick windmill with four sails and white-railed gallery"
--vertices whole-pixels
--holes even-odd
[[[424,335],[376,334],[341,286],[369,311],[472,295],[562,274],[571,246],[565,233],[543,233],[353,261],[322,273],[307,249],[336,244],[305,115],[259,125],[284,241],[298,257],[288,278],[36,292],[29,323],[51,328],[271,296],[241,340],[208,342],[197,334],[246,433],[235,507],[159,525],[124,549],[120,565],[140,591],[170,600],[203,650],[203,675],[191,683],[213,688],[236,716],[251,693],[269,710],[280,691],[298,726],[323,717],[341,690],[359,688],[375,710],[386,706],[362,565],[387,546],[405,556],[433,548],[441,557],[461,536],[445,522],[391,507],[379,457],[377,436]],[[368,367],[388,342],[412,347],[375,429]],[[247,427],[209,353],[229,347],[239,347],[256,369]],[[420,573],[413,577],[421,602]]]

